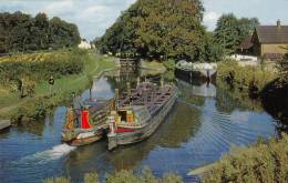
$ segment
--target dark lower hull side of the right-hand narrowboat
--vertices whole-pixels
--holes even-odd
[[[171,99],[163,105],[163,108],[151,119],[147,125],[140,129],[128,129],[121,128],[117,130],[116,134],[109,134],[109,150],[115,149],[117,145],[127,145],[136,142],[141,142],[148,136],[151,136],[156,129],[164,121],[165,116],[172,110],[175,101],[177,99],[176,93],[171,96]],[[120,132],[122,131],[122,132]]]

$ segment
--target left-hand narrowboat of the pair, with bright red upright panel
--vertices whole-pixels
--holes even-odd
[[[102,139],[112,101],[86,101],[81,109],[71,106],[62,130],[62,141],[73,145],[86,145]]]

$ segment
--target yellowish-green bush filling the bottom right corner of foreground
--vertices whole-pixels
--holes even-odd
[[[288,135],[258,142],[249,148],[233,148],[204,175],[202,182],[288,182]]]

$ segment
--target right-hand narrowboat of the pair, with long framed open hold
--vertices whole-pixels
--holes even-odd
[[[115,100],[116,110],[109,116],[109,150],[140,142],[152,135],[177,99],[175,85],[158,87],[150,82]]]

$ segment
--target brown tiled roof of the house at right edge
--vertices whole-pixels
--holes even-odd
[[[288,26],[259,26],[256,31],[260,43],[288,43]]]

